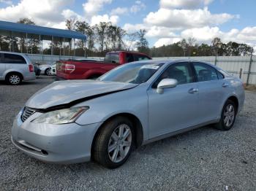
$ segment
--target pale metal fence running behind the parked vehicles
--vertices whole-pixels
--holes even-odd
[[[30,55],[32,62],[52,63],[59,60],[75,59],[82,57],[59,55]],[[93,57],[90,57],[93,58]],[[94,59],[103,59],[94,57]],[[187,59],[187,57],[161,57],[154,60]],[[240,77],[244,83],[256,85],[256,55],[252,56],[200,56],[192,57],[193,60],[205,61],[228,71],[236,77]]]

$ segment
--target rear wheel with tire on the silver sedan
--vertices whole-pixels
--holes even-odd
[[[214,128],[219,130],[230,130],[236,121],[236,113],[236,104],[231,100],[227,100],[222,109],[221,119],[214,124]]]

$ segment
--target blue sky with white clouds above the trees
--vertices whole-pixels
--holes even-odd
[[[111,21],[127,31],[145,28],[150,47],[195,37],[210,43],[247,43],[256,50],[255,0],[0,0],[0,20],[29,17],[39,26],[65,28],[76,18]]]

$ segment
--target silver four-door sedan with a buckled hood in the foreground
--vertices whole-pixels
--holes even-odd
[[[241,80],[217,66],[140,61],[39,90],[15,118],[12,142],[45,162],[116,168],[142,144],[209,124],[230,130],[243,104]]]

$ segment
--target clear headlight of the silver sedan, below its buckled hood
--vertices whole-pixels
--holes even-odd
[[[40,115],[32,122],[46,123],[46,124],[64,124],[69,122],[75,122],[76,119],[86,112],[89,106],[74,107],[69,109],[60,109],[53,112],[47,112]]]

